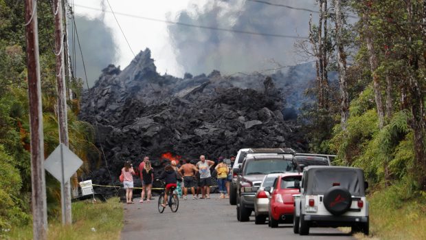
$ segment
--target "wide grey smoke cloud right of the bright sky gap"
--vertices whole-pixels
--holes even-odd
[[[282,3],[267,0],[270,3]],[[247,32],[308,36],[310,12],[269,6],[256,1],[192,1],[179,14],[181,23]],[[317,10],[313,0],[290,0],[286,5]],[[317,19],[317,14],[313,14]],[[168,27],[177,62],[186,72],[201,74],[218,69],[226,74],[254,72],[280,65],[295,65],[296,39],[222,32],[183,25]],[[276,62],[276,63],[273,63]]]

